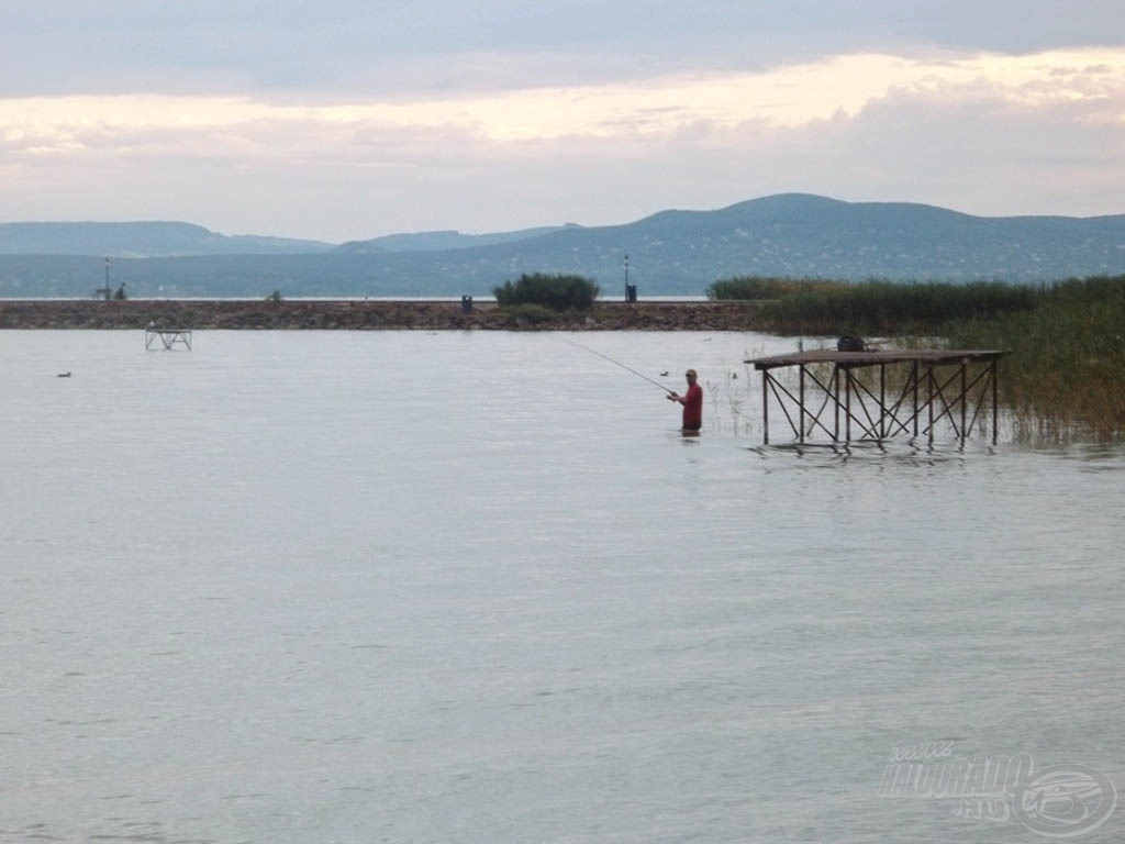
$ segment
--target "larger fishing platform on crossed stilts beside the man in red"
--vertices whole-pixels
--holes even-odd
[[[947,425],[964,445],[991,404],[998,437],[996,350],[796,351],[745,361],[762,372],[763,441],[770,442],[771,397],[801,443],[926,437]],[[796,384],[777,371],[796,367]]]

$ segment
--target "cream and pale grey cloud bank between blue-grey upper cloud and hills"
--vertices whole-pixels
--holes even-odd
[[[608,224],[788,190],[1105,213],[1125,188],[1123,115],[1125,54],[1108,48],[389,97],[7,98],[0,177],[19,192],[0,216],[176,216],[341,241]]]

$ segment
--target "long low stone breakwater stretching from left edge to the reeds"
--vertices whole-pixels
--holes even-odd
[[[0,329],[752,331],[757,308],[736,302],[598,303],[588,314],[531,323],[493,302],[7,299]]]

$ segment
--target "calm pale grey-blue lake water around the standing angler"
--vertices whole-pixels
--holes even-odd
[[[1051,839],[880,797],[928,742],[1125,789],[1125,451],[762,449],[790,343],[577,338],[699,369],[683,439],[561,336],[0,332],[0,841]]]

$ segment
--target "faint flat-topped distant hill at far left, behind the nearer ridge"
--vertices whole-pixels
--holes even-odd
[[[168,258],[326,252],[317,241],[216,234],[190,223],[0,223],[0,254]]]

